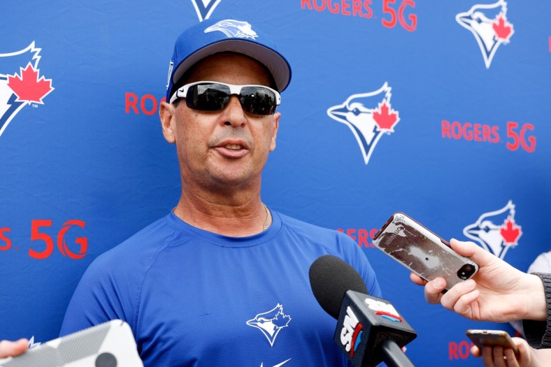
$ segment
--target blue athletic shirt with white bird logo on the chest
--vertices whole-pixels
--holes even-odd
[[[334,255],[380,297],[373,268],[345,234],[271,214],[269,229],[238,238],[173,213],[150,224],[90,264],[60,336],[122,319],[144,366],[352,366],[308,270]]]

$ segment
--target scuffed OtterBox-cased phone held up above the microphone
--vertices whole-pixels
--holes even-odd
[[[404,213],[394,213],[373,238],[373,245],[424,280],[442,277],[446,288],[471,278],[478,264]]]

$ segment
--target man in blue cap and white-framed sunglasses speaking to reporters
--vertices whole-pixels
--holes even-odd
[[[333,254],[380,296],[373,269],[348,236],[260,197],[290,75],[247,22],[205,20],[178,38],[159,115],[176,144],[180,201],[90,265],[61,335],[117,318],[145,366],[348,365],[308,269]]]

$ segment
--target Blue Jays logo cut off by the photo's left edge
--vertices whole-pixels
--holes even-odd
[[[42,99],[54,88],[52,80],[39,78],[41,48],[32,42],[23,50],[0,54],[0,136],[19,111]]]

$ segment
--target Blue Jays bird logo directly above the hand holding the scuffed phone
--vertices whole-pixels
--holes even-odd
[[[518,245],[522,236],[522,227],[515,222],[515,204],[508,201],[503,208],[480,215],[476,222],[463,229],[463,234],[503,259],[509,247]]]

